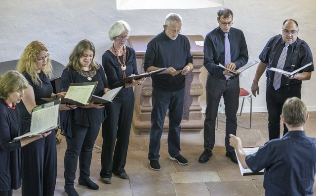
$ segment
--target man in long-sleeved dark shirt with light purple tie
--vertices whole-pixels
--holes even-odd
[[[223,95],[226,115],[225,147],[226,157],[237,163],[234,148],[229,145],[230,134],[236,134],[237,110],[239,104],[239,77],[220,68],[238,69],[248,62],[248,49],[241,30],[232,28],[233,12],[228,8],[217,12],[219,26],[205,36],[204,66],[208,71],[206,79],[206,110],[204,121],[204,151],[198,159],[206,163],[213,155],[215,124],[218,105]]]

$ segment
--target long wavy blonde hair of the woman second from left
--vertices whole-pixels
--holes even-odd
[[[26,46],[24,52],[21,55],[18,64],[16,65],[16,70],[20,73],[28,73],[31,76],[32,82],[37,85],[41,85],[40,77],[38,74],[38,67],[35,63],[36,58],[39,56],[41,51],[48,51],[46,46],[40,41],[32,41]],[[46,60],[46,67],[41,70],[49,78],[52,76],[52,65],[49,56]]]

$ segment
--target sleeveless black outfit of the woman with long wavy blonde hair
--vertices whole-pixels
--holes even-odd
[[[37,105],[50,98],[53,87],[49,78],[39,73],[42,84],[36,85],[27,73],[23,73],[34,89]],[[18,107],[22,134],[30,132],[31,115],[23,101]],[[57,178],[57,150],[54,131],[43,139],[38,139],[22,148],[22,196],[53,196]]]

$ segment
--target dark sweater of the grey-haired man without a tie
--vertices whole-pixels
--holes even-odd
[[[147,45],[144,69],[150,66],[183,69],[188,63],[193,63],[190,53],[189,39],[179,34],[175,40],[170,39],[165,32],[156,35]],[[153,88],[160,91],[178,91],[185,87],[185,76],[178,74],[158,74],[152,77]]]

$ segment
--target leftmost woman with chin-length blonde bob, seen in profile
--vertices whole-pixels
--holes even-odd
[[[0,76],[0,196],[12,196],[12,190],[21,187],[20,148],[51,133],[10,143],[14,137],[21,135],[16,107],[28,87],[26,78],[15,70]]]

